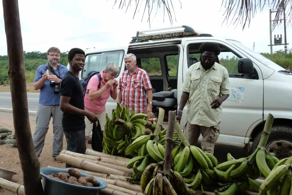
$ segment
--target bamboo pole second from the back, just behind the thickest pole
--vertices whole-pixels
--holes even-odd
[[[104,163],[110,163],[113,165],[119,165],[119,166],[123,166],[123,167],[127,166],[126,161],[121,161],[118,159],[106,158],[106,157],[102,157],[102,156],[91,156],[91,155],[86,155],[86,154],[80,154],[80,153],[76,153],[76,152],[71,152],[69,150],[62,150],[60,153],[69,154],[71,156],[82,157],[82,158],[95,160],[95,161],[101,161]]]

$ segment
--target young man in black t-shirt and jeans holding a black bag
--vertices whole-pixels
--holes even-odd
[[[84,98],[78,73],[85,64],[85,53],[82,49],[73,48],[68,53],[69,71],[61,82],[60,109],[64,112],[62,125],[67,141],[67,150],[84,154],[85,122],[84,116],[90,122],[97,121],[94,113],[84,110]],[[67,167],[72,167],[66,164]]]

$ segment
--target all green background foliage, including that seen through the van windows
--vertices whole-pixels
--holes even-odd
[[[274,63],[279,64],[285,69],[292,70],[292,49],[290,49],[287,54],[283,50],[276,51],[274,54],[261,53],[266,58],[269,58]],[[25,52],[25,74],[26,82],[33,82],[36,68],[48,61],[46,53],[41,53],[40,51]],[[190,57],[196,57],[199,59],[199,54],[190,54]],[[237,62],[238,59],[234,56],[229,58],[219,59],[220,64],[224,65],[230,73],[237,73]],[[67,65],[68,63],[68,52],[63,52],[61,54],[60,63]],[[177,75],[178,67],[178,55],[166,56],[166,63],[169,76]],[[234,65],[236,64],[236,65]],[[159,58],[143,58],[141,59],[142,68],[145,69],[149,75],[161,75],[161,67]],[[9,84],[8,77],[8,56],[0,56],[0,85]]]

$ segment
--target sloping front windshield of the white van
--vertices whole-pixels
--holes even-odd
[[[234,44],[235,46],[237,46],[239,49],[242,49],[244,51],[246,51],[249,55],[253,56],[254,58],[256,58],[258,61],[260,61],[260,63],[266,65],[267,67],[274,69],[276,71],[279,70],[285,70],[285,68],[279,66],[278,64],[274,63],[273,61],[271,61],[270,59],[266,58],[265,56],[256,53],[255,51],[249,49],[248,47],[244,46],[242,43],[235,41],[235,40],[231,40],[231,39],[226,39],[227,41],[231,42],[232,44]]]

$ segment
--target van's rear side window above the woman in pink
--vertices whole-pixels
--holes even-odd
[[[124,50],[108,51],[98,54],[88,54],[85,58],[85,65],[81,77],[86,77],[91,71],[102,71],[105,65],[110,62],[117,63],[121,67],[124,57]]]

